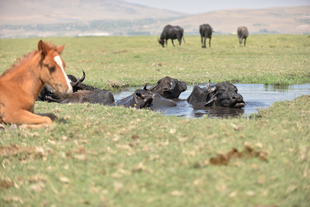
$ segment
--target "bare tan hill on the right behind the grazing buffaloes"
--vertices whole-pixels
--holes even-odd
[[[272,7],[264,9],[233,9],[191,15],[171,24],[183,25],[184,31],[196,31],[201,22],[218,33],[237,33],[246,26],[250,33],[310,33],[310,6]]]

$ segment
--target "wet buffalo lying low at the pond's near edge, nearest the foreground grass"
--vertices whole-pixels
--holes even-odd
[[[175,101],[165,99],[159,93],[151,93],[144,89],[135,90],[132,95],[117,101],[116,104],[133,108],[151,108],[152,110],[176,106]]]

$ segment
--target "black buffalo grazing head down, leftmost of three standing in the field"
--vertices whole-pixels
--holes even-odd
[[[170,24],[168,24],[164,27],[164,30],[162,31],[162,34],[158,42],[162,45],[162,47],[164,47],[165,40],[166,40],[166,46],[167,46],[168,39],[171,39],[172,45],[175,46],[173,44],[173,40],[178,39],[179,45],[181,45],[182,37],[183,37],[183,29],[181,27],[171,26]],[[184,37],[183,37],[183,41],[185,43]]]

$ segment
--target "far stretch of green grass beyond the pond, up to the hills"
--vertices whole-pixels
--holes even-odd
[[[48,38],[65,44],[61,55],[68,74],[85,82],[115,90],[142,86],[170,76],[188,83],[231,81],[233,83],[299,84],[310,82],[310,42],[306,35],[253,35],[246,47],[237,36],[214,36],[211,48],[201,48],[200,37],[186,36],[186,44],[162,48],[154,36]],[[0,40],[0,72],[14,60],[37,48],[39,39]],[[153,63],[161,63],[156,67]]]

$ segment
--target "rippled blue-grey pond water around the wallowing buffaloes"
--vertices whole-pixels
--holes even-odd
[[[198,84],[205,87],[206,84]],[[213,85],[213,84],[211,84]],[[234,84],[238,92],[243,96],[246,106],[243,108],[224,108],[195,106],[187,103],[186,99],[193,90],[193,85],[187,86],[187,90],[181,93],[178,99],[173,99],[177,107],[163,108],[160,112],[165,115],[175,115],[179,117],[199,118],[209,116],[217,117],[236,117],[241,115],[249,116],[256,113],[259,108],[268,108],[275,101],[293,100],[300,95],[310,94],[310,84],[303,85],[263,85],[263,84]],[[149,88],[150,86],[148,86]],[[141,87],[126,88],[125,91],[113,93],[115,101],[131,95],[136,89]]]

